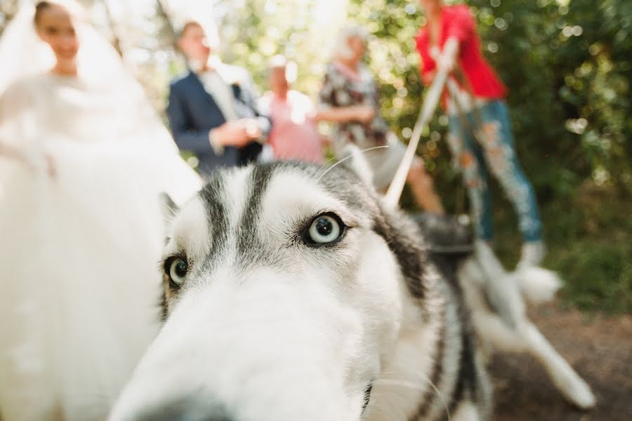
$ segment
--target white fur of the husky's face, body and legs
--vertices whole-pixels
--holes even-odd
[[[362,173],[361,165],[355,168]],[[223,222],[209,218],[201,196],[171,222],[165,256],[187,256],[187,279],[168,297],[169,319],[111,419],[154,420],[156,408],[171,405],[184,407],[190,420],[233,420],[230,414],[244,421],[404,421],[413,419],[428,394],[433,399],[419,420],[446,413],[455,421],[486,419],[485,373],[478,373],[482,398],[466,393],[450,411],[449,396],[442,396],[459,380],[460,338],[467,330],[442,275],[428,269],[431,289],[419,305],[393,250],[372,229],[369,213],[351,208],[291,168],[270,180],[253,231],[262,248],[279,244],[278,249],[265,256],[269,264],[244,260],[239,248],[247,241],[242,215],[251,206],[245,193],[254,191],[251,171],[239,169],[225,177],[227,239],[211,250],[212,259],[207,253],[217,233],[213,227]],[[360,174],[360,180],[370,178]],[[329,252],[288,243],[301,220],[326,212],[335,212],[350,227],[345,246]],[[478,246],[459,272],[483,343],[492,350],[534,354],[567,399],[580,407],[593,405],[588,386],[525,316],[520,286],[537,290],[529,297],[541,300],[551,295],[555,277],[537,271],[507,274],[490,253]],[[524,275],[534,274],[546,274],[538,277],[545,281],[525,281]],[[498,290],[495,300],[509,300],[506,314],[499,316],[486,304],[490,282]],[[445,310],[443,319],[433,316],[435,309]],[[445,349],[435,384],[430,375],[438,342]],[[482,356],[475,338],[473,344],[478,367]],[[367,385],[372,385],[371,398],[363,410]],[[209,413],[219,415],[209,418]]]

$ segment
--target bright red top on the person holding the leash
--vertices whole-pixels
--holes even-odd
[[[450,37],[459,40],[459,64],[468,80],[474,95],[478,98],[501,99],[507,88],[489,66],[480,49],[480,39],[476,33],[476,24],[465,4],[444,6],[441,15],[441,33],[439,46],[443,49]],[[416,36],[417,51],[421,55],[422,74],[433,72],[437,64],[430,57],[430,40],[427,25],[419,29]]]

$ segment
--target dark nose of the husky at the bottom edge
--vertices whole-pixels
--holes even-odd
[[[134,421],[235,421],[221,407],[179,401],[148,408]]]

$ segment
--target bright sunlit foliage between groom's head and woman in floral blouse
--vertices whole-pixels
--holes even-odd
[[[266,66],[283,54],[298,64],[294,88],[317,95],[331,46],[345,15],[339,0],[220,0],[223,58],[249,69],[256,85],[268,88]],[[336,7],[338,6],[338,7]],[[338,10],[336,10],[338,9]]]

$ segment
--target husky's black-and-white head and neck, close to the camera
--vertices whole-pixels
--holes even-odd
[[[233,168],[171,206],[165,323],[111,420],[489,419],[481,295],[365,170]]]

